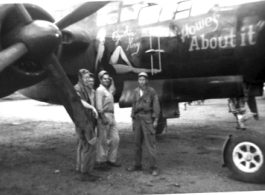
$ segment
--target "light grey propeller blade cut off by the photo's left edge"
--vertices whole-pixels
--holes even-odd
[[[16,43],[0,52],[0,72],[25,55],[28,49],[23,43]]]

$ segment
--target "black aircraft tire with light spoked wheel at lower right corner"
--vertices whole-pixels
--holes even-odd
[[[225,161],[233,176],[243,182],[265,182],[265,136],[242,131],[231,136]]]

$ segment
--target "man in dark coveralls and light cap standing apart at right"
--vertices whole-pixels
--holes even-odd
[[[142,72],[138,75],[139,87],[135,89],[131,117],[133,119],[135,156],[134,166],[127,170],[142,170],[142,144],[145,140],[149,154],[151,174],[157,176],[157,159],[155,144],[155,129],[160,113],[160,105],[155,90],[149,87],[148,75]]]

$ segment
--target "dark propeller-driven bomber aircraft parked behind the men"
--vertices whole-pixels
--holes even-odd
[[[131,106],[137,74],[149,74],[162,108],[158,133],[167,118],[179,117],[179,102],[247,98],[258,113],[255,97],[265,82],[264,10],[265,1],[100,1],[54,23],[38,6],[2,5],[0,97],[19,90],[63,104],[76,125],[86,125],[72,85],[79,69],[95,75],[104,69],[115,81],[120,107]],[[223,157],[238,179],[265,181],[263,135],[230,135]]]

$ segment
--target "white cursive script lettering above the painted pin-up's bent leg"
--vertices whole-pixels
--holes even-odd
[[[112,33],[112,40],[116,42],[116,45],[120,41],[127,43],[126,51],[135,50],[132,52],[131,56],[137,54],[140,49],[140,42],[135,41],[136,32],[133,32],[128,26],[126,26],[124,31],[114,31]]]

